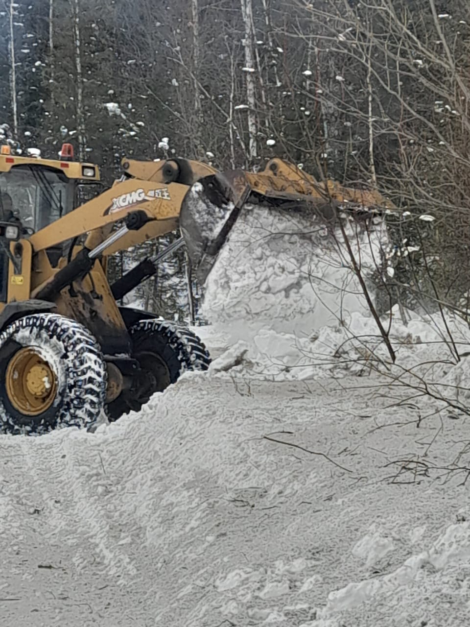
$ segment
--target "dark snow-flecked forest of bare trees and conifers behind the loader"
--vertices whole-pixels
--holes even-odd
[[[21,147],[54,155],[70,140],[107,184],[125,155],[184,156],[217,169],[258,169],[276,155],[317,179],[378,189],[435,218],[412,255],[420,281],[397,271],[397,291],[406,285],[405,300],[466,310],[466,0],[5,0],[1,8],[0,111]],[[136,254],[123,255],[117,271]],[[140,297],[187,317],[184,256]]]

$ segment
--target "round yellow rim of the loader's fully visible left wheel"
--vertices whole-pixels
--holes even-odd
[[[19,349],[5,373],[6,393],[13,407],[26,416],[38,416],[53,403],[57,380],[55,372],[31,347]]]

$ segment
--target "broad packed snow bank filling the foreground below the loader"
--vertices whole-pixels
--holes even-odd
[[[360,381],[185,374],[95,434],[0,436],[0,624],[464,627],[466,424]]]

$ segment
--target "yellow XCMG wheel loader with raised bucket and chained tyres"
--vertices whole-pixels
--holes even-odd
[[[216,172],[173,159],[124,160],[110,189],[80,204],[99,181],[93,164],[0,154],[0,428],[44,433],[89,428],[104,410],[138,410],[182,371],[210,357],[190,330],[118,301],[186,245],[204,281],[245,203],[302,207],[332,223],[340,211],[369,219],[391,204],[373,192],[318,183],[274,159],[263,172]],[[364,218],[363,216],[366,216]],[[110,285],[107,258],[180,228],[182,238]]]

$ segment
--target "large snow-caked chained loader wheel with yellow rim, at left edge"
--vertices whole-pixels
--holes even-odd
[[[58,314],[31,314],[0,334],[0,428],[45,433],[88,427],[102,411],[107,369],[88,329]]]

